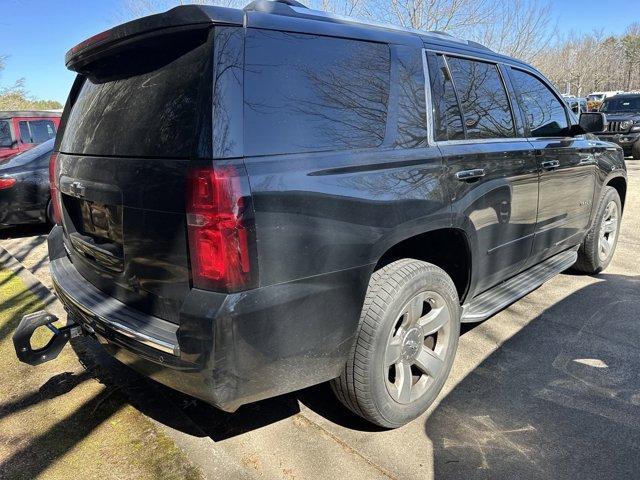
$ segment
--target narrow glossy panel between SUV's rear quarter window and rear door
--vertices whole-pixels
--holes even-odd
[[[427,112],[424,97],[422,51],[396,47],[398,54],[398,130],[396,145],[419,148],[427,145]]]

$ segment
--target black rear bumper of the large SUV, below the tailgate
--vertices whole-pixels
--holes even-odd
[[[340,374],[373,266],[226,295],[191,289],[179,324],[87,282],[49,235],[51,275],[69,315],[115,358],[226,410]]]

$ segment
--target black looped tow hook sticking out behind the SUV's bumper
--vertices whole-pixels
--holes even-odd
[[[56,358],[66,343],[74,337],[82,335],[82,329],[76,324],[61,328],[53,326],[58,320],[55,315],[40,310],[39,312],[25,315],[13,334],[13,346],[16,349],[18,360],[29,365],[40,365]],[[42,348],[31,348],[31,337],[38,327],[47,327],[53,332],[53,337]]]

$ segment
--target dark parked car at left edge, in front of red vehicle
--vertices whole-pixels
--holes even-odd
[[[52,222],[49,158],[54,139],[0,164],[0,226]]]

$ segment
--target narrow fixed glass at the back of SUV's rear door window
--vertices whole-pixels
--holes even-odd
[[[434,108],[435,139],[464,140],[462,115],[451,75],[442,55],[427,54]]]

